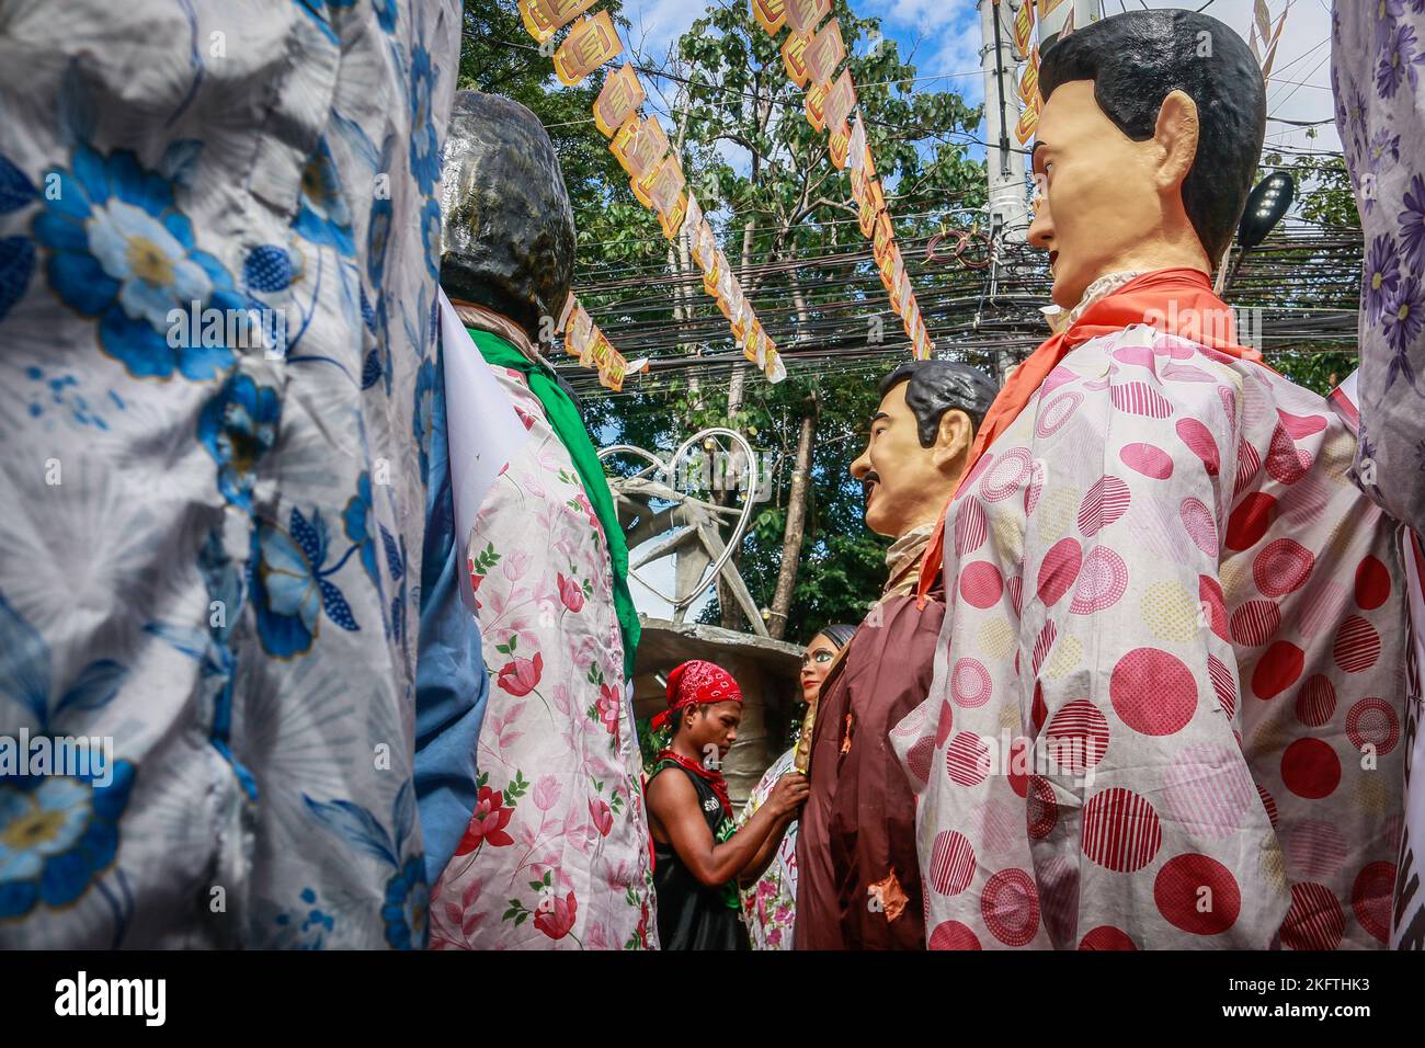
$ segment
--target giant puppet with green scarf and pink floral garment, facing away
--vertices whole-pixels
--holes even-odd
[[[657,947],[624,689],[638,636],[627,548],[577,406],[534,342],[569,294],[569,197],[534,114],[475,91],[456,96],[445,178],[440,282],[530,439],[469,536],[492,686],[477,804],[432,898],[432,945]]]

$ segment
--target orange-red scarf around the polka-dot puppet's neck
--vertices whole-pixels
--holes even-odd
[[[1084,309],[1083,315],[1070,327],[1042,342],[1029,355],[1029,359],[1019,365],[985,413],[975,443],[970,445],[959,483],[965,483],[965,478],[972,473],[980,456],[1000,433],[1013,425],[1019,412],[1049,378],[1049,372],[1089,339],[1123,331],[1130,324],[1149,324],[1151,321],[1154,328],[1166,334],[1211,346],[1243,361],[1261,364],[1260,352],[1237,345],[1233,337],[1235,322],[1226,322],[1226,318],[1230,317],[1233,317],[1231,307],[1213,294],[1207,274],[1200,269],[1186,267],[1154,269],[1126,281]],[[926,546],[925,559],[921,560],[921,585],[916,590],[919,607],[925,607],[925,600],[942,570],[945,518],[958,495],[959,485],[950,495],[950,500],[945,503],[945,509],[935,523],[935,532],[931,535],[931,545]]]

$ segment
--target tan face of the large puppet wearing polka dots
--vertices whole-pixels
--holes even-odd
[[[1036,135],[1029,242],[1049,251],[1054,302],[1072,309],[1099,277],[1159,268],[1153,245],[1181,212],[1180,197],[1164,212],[1160,143],[1123,134],[1099,108],[1092,80],[1059,86]],[[1177,224],[1186,222],[1183,214]]]

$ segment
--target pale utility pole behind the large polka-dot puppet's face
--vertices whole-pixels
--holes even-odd
[[[1025,154],[1010,145],[1010,128],[1019,120],[1015,84],[1015,13],[1035,0],[979,0],[980,70],[985,73],[985,170],[989,175],[990,264],[986,299],[999,294],[999,269],[1006,250],[1023,244],[1029,231],[1025,188]],[[979,317],[975,318],[976,327]],[[1003,382],[1015,364],[1007,349],[995,352],[995,369]]]

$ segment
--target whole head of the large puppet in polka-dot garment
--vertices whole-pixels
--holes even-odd
[[[1113,14],[1043,56],[1029,241],[1073,308],[1110,272],[1227,251],[1261,155],[1267,96],[1245,41],[1183,10]]]

